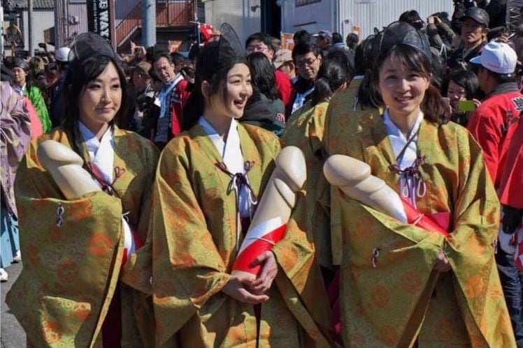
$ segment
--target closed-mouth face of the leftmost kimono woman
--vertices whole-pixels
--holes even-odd
[[[96,79],[87,82],[80,92],[80,121],[97,132],[113,121],[122,104],[122,86],[116,67],[108,63]]]

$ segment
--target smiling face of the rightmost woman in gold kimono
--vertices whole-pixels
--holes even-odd
[[[421,73],[393,63],[387,58],[380,68],[378,92],[391,116],[419,114],[430,82]]]

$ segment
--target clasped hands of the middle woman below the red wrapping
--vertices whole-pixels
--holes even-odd
[[[252,280],[248,275],[232,275],[222,292],[243,303],[257,304],[268,301],[265,294],[271,288],[274,278],[278,274],[278,264],[273,252],[266,251],[259,255],[251,264],[263,264],[259,276]]]

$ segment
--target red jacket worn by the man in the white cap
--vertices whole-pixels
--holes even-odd
[[[501,175],[507,162],[507,152],[515,126],[523,110],[523,94],[517,84],[499,84],[478,109],[471,114],[468,130],[478,141],[485,156],[485,164],[499,188]]]

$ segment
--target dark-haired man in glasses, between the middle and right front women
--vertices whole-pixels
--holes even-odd
[[[294,46],[292,59],[294,60],[296,76],[298,77],[292,85],[294,90],[292,95],[292,112],[295,112],[303,106],[310,93],[314,91],[314,82],[318,70],[320,70],[322,56],[317,45],[304,42]]]

